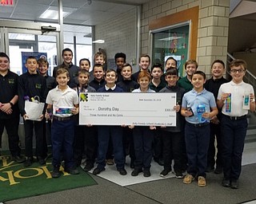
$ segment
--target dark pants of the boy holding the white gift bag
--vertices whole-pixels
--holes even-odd
[[[46,121],[23,120],[25,128],[26,156],[33,156],[33,135],[35,134],[36,156],[46,157],[46,135],[44,126]]]

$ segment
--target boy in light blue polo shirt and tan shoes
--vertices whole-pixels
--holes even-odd
[[[207,151],[210,140],[209,120],[218,114],[212,92],[206,91],[206,74],[197,71],[192,75],[194,88],[186,92],[182,99],[182,116],[185,116],[186,155],[188,158],[187,175],[183,179],[191,183],[198,176],[198,186],[206,186]]]

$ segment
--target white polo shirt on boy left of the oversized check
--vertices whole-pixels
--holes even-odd
[[[58,86],[48,93],[46,97],[46,104],[53,105],[53,115],[60,117],[69,117],[72,114],[56,114],[58,108],[74,108],[74,104],[79,104],[79,98],[77,92],[69,86],[64,92],[58,88]]]

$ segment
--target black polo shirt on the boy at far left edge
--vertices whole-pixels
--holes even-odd
[[[8,70],[6,76],[3,77],[0,74],[0,102],[9,103],[15,95],[18,95],[18,75]],[[0,111],[0,119],[10,119],[19,114],[18,103],[14,104],[12,109],[13,112],[10,115]]]

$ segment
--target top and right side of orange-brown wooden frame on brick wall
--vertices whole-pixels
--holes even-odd
[[[161,29],[167,26],[173,26],[178,23],[191,21],[190,27],[190,59],[196,60],[198,45],[198,12],[199,6],[195,6],[188,10],[182,10],[176,14],[158,18],[149,23],[149,29]]]

